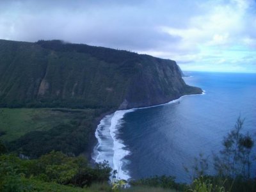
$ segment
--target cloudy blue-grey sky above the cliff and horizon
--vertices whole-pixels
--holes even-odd
[[[0,0],[0,39],[123,49],[182,70],[256,72],[256,0]]]

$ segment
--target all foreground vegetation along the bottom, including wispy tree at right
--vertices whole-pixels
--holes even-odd
[[[256,180],[250,173],[253,140],[242,134],[243,122],[236,125],[223,140],[223,150],[215,155],[217,175],[205,175],[207,159],[196,159],[192,184],[179,184],[174,177],[155,176],[133,180],[131,188],[124,188],[124,180],[108,184],[111,168],[108,163],[94,168],[82,156],[67,156],[62,152],[50,152],[38,159],[20,159],[14,154],[4,154],[0,143],[0,190],[1,191],[191,191],[191,192],[250,192],[256,189]],[[227,142],[228,141],[228,142]],[[216,158],[218,157],[218,158]],[[218,166],[220,165],[221,166]],[[247,168],[248,170],[245,170]],[[114,171],[116,173],[116,171]],[[225,173],[225,174],[224,174]]]

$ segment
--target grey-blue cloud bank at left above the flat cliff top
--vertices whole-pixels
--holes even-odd
[[[24,2],[5,4],[6,9],[0,13],[0,38],[32,42],[56,38],[138,51],[163,47],[179,40],[179,37],[167,35],[154,26],[162,22],[157,18],[159,13],[154,6],[139,4],[136,7],[137,3],[115,3],[117,1],[110,4],[102,3],[106,1],[98,1],[99,4],[64,1],[61,6],[50,1]],[[144,12],[141,12],[142,8]]]

